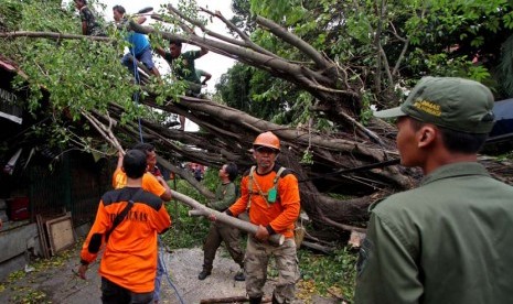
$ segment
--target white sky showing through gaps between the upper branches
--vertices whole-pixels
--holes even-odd
[[[73,0],[64,0],[63,2],[71,2]],[[153,12],[158,12],[162,4],[172,3],[174,7],[178,4],[178,0],[149,0],[149,1],[133,1],[133,0],[99,0],[99,2],[106,4],[106,9],[103,12],[105,20],[113,21],[113,7],[114,6],[122,6],[128,14],[136,13],[138,10],[147,7],[152,7]],[[142,2],[142,3],[141,3]],[[196,0],[199,7],[209,9],[210,11],[218,10],[226,19],[231,19],[233,17],[232,12],[232,0]],[[98,11],[99,12],[99,11]],[[148,18],[148,21],[145,22],[142,25],[149,25],[151,22],[154,22],[151,18]],[[209,23],[206,25],[210,30],[214,32],[218,32],[221,34],[229,35],[225,24],[220,21],[218,19],[213,19],[213,23]],[[201,34],[201,30],[196,30],[197,34]],[[183,44],[182,52],[199,50],[195,45]],[[170,72],[168,63],[160,58],[160,56],[154,55],[153,59],[159,68],[161,74],[167,74]],[[209,52],[209,54],[204,55],[201,58],[195,61],[196,68],[203,69],[210,74],[212,74],[212,79],[207,83],[207,87],[204,88],[209,93],[214,93],[215,84],[221,78],[221,75],[226,73],[229,67],[235,64],[235,61],[213,52]]]

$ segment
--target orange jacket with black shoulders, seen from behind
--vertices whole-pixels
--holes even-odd
[[[104,194],[95,222],[82,248],[81,259],[83,263],[93,262],[105,246],[99,274],[127,290],[145,293],[154,287],[157,234],[164,232],[171,225],[160,197],[149,192],[140,193],[106,245],[104,237],[138,189],[125,187]]]

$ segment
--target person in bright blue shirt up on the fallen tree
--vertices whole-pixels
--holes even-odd
[[[113,8],[114,20],[119,28],[129,26],[128,20],[125,17],[126,10],[121,6],[115,6]],[[146,17],[139,17],[136,21],[139,24],[146,22]],[[154,76],[160,78],[159,69],[154,66],[153,55],[151,54],[151,46],[148,36],[141,33],[136,33],[130,29],[127,29],[128,33],[126,34],[125,40],[130,44],[129,52],[122,56],[121,63],[131,74],[135,74],[135,63],[132,61],[141,62]],[[137,78],[137,77],[136,77]]]

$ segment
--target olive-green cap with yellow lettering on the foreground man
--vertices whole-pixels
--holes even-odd
[[[494,123],[493,95],[478,82],[424,77],[397,108],[374,112],[378,118],[409,116],[466,133],[489,133]]]

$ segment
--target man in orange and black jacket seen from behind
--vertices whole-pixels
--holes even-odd
[[[87,267],[105,245],[99,274],[103,303],[150,303],[157,270],[157,234],[164,232],[171,219],[162,200],[141,188],[147,170],[146,155],[129,150],[121,170],[125,187],[107,192],[99,202],[95,222],[81,252],[78,273],[85,279]],[[118,226],[115,218],[126,213]]]

